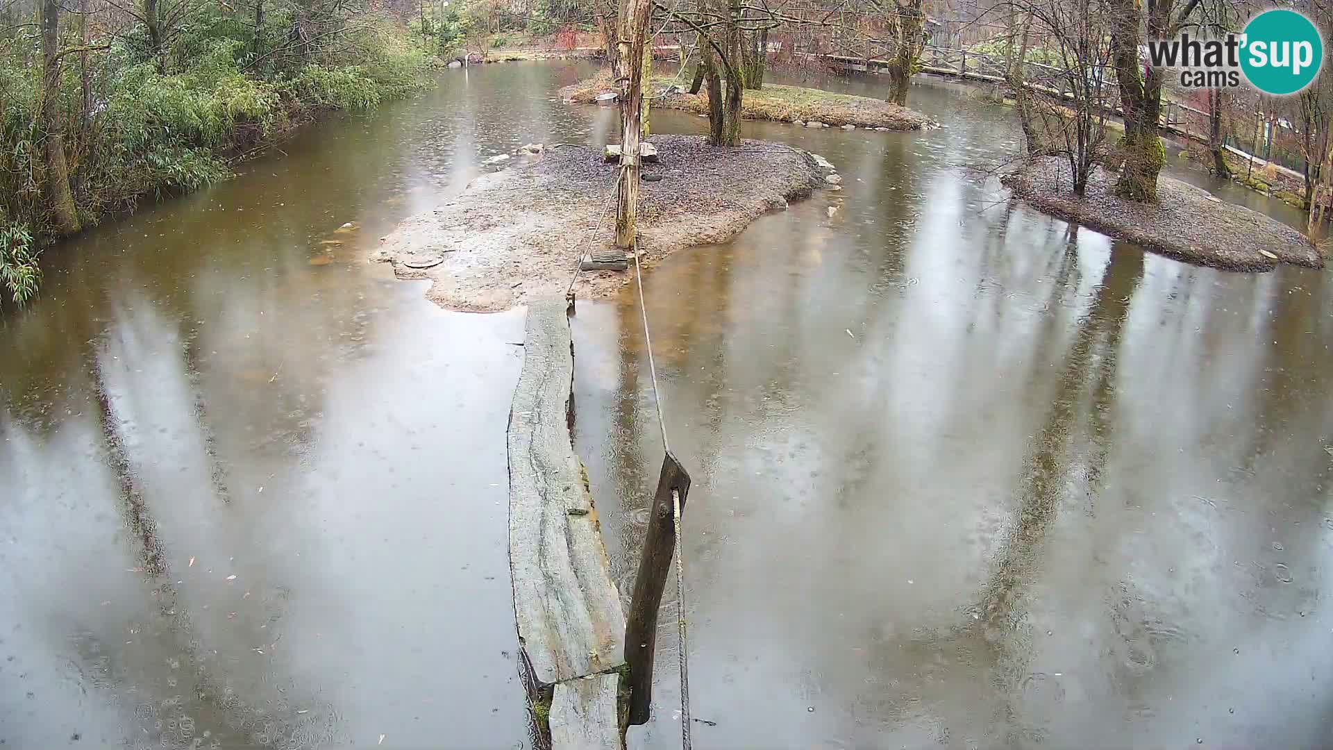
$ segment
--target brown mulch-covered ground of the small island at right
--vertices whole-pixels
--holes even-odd
[[[1048,214],[1186,263],[1226,271],[1272,271],[1278,263],[1324,267],[1305,235],[1257,211],[1165,175],[1157,180],[1156,204],[1126,202],[1114,196],[1114,177],[1097,168],[1080,200],[1070,190],[1069,163],[1048,156],[1001,181]]]

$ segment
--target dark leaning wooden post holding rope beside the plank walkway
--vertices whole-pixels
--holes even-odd
[[[661,478],[644,534],[644,554],[639,558],[635,595],[625,618],[625,662],[629,665],[631,725],[648,723],[653,699],[653,654],[657,650],[657,610],[676,550],[676,519],[672,491],[680,492],[680,512],[685,512],[689,474],[670,452],[663,459]]]

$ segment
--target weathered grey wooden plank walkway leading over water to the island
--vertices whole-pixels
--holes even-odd
[[[509,411],[509,566],[533,717],[555,749],[623,747],[625,615],[575,455],[573,340],[564,300],[528,307]],[[544,726],[545,725],[545,726]]]

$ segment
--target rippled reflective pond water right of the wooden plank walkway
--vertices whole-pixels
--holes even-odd
[[[1017,147],[1009,111],[912,96],[945,127],[745,123],[844,190],[645,275],[694,476],[696,742],[1318,745],[1326,278],[1193,268],[1006,202],[958,165]],[[635,288],[573,326],[625,591],[661,460]],[[632,747],[678,742],[669,630]]]

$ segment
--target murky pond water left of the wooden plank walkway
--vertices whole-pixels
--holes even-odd
[[[604,137],[584,72],[449,71],[44,256],[0,318],[0,743],[525,742],[521,315],[363,258],[491,155]]]

